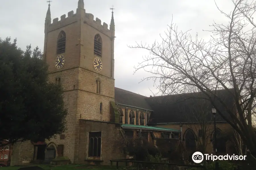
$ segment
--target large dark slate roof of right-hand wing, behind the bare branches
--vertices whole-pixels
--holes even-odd
[[[228,107],[234,108],[234,98],[230,92],[227,90],[218,90],[216,94]],[[202,93],[147,97],[146,101],[153,110],[148,125],[156,123],[198,122],[197,118],[199,114],[207,115],[205,116],[205,120],[213,121],[212,104],[208,100],[195,98],[198,96],[202,96]],[[201,104],[199,105],[198,103]],[[216,105],[218,105],[220,111],[230,119],[229,114],[222,104],[216,102]],[[207,112],[207,114],[205,114],[205,112]],[[218,112],[216,114],[216,121],[225,121],[220,117]]]

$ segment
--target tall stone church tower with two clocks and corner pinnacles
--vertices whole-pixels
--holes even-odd
[[[64,145],[63,154],[77,160],[79,119],[109,122],[110,101],[114,101],[114,36],[99,18],[86,13],[78,1],[76,13],[68,12],[51,23],[50,5],[45,20],[44,59],[49,65],[49,81],[63,87],[68,109],[67,131],[51,140]],[[57,148],[57,146],[56,146]]]

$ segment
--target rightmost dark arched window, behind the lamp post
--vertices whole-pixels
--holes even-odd
[[[219,128],[216,128],[216,136],[217,136],[217,146],[216,146],[217,151],[221,152],[221,153],[226,153],[226,140],[225,140],[224,135],[221,133],[221,130]],[[211,141],[212,141],[213,150],[215,151],[215,148],[214,148],[214,142],[215,142],[214,130],[212,131]]]

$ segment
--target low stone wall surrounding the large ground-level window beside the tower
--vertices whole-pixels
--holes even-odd
[[[77,163],[88,163],[89,132],[102,132],[101,141],[101,164],[109,165],[110,160],[125,159],[126,155],[121,146],[121,135],[119,124],[80,120],[79,124],[79,151]]]

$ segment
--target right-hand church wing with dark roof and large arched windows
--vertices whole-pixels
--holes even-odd
[[[225,105],[236,114],[233,89],[217,90],[216,95],[224,101]],[[214,116],[212,104],[202,99],[201,93],[180,95],[167,95],[146,98],[146,101],[154,110],[148,121],[148,126],[174,128],[181,130],[181,140],[187,150],[198,151],[203,145],[205,152],[214,154]],[[220,112],[229,120],[232,120],[226,112],[226,108],[219,103]],[[219,154],[232,153],[234,148],[230,137],[233,129],[219,114],[216,113],[217,150]]]

